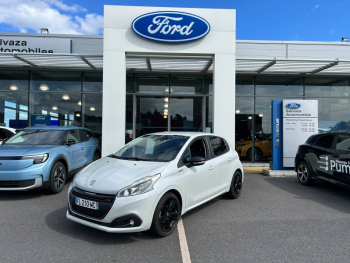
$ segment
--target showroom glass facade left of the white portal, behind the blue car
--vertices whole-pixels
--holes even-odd
[[[0,71],[0,126],[31,126],[32,114],[101,135],[102,72]]]

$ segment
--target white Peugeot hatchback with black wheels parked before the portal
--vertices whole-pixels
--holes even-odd
[[[67,218],[106,232],[168,236],[187,211],[224,193],[238,198],[243,179],[236,151],[219,136],[147,134],[75,175]]]

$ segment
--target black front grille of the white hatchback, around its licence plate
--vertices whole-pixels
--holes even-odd
[[[93,210],[90,208],[85,208],[75,204],[75,197],[87,199],[90,201],[96,201],[99,204],[99,210]],[[74,187],[69,194],[69,202],[72,209],[72,212],[87,216],[94,219],[103,219],[111,210],[116,196],[114,195],[103,195],[83,191]]]

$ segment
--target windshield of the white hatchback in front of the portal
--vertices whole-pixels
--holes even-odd
[[[152,162],[173,160],[189,137],[181,135],[145,135],[125,145],[110,157]]]

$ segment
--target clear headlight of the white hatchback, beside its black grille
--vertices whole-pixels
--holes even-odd
[[[127,197],[133,195],[139,195],[143,193],[147,193],[153,190],[153,185],[159,179],[160,174],[156,174],[153,176],[146,176],[140,180],[133,182],[131,185],[124,187],[118,193],[118,197]]]

